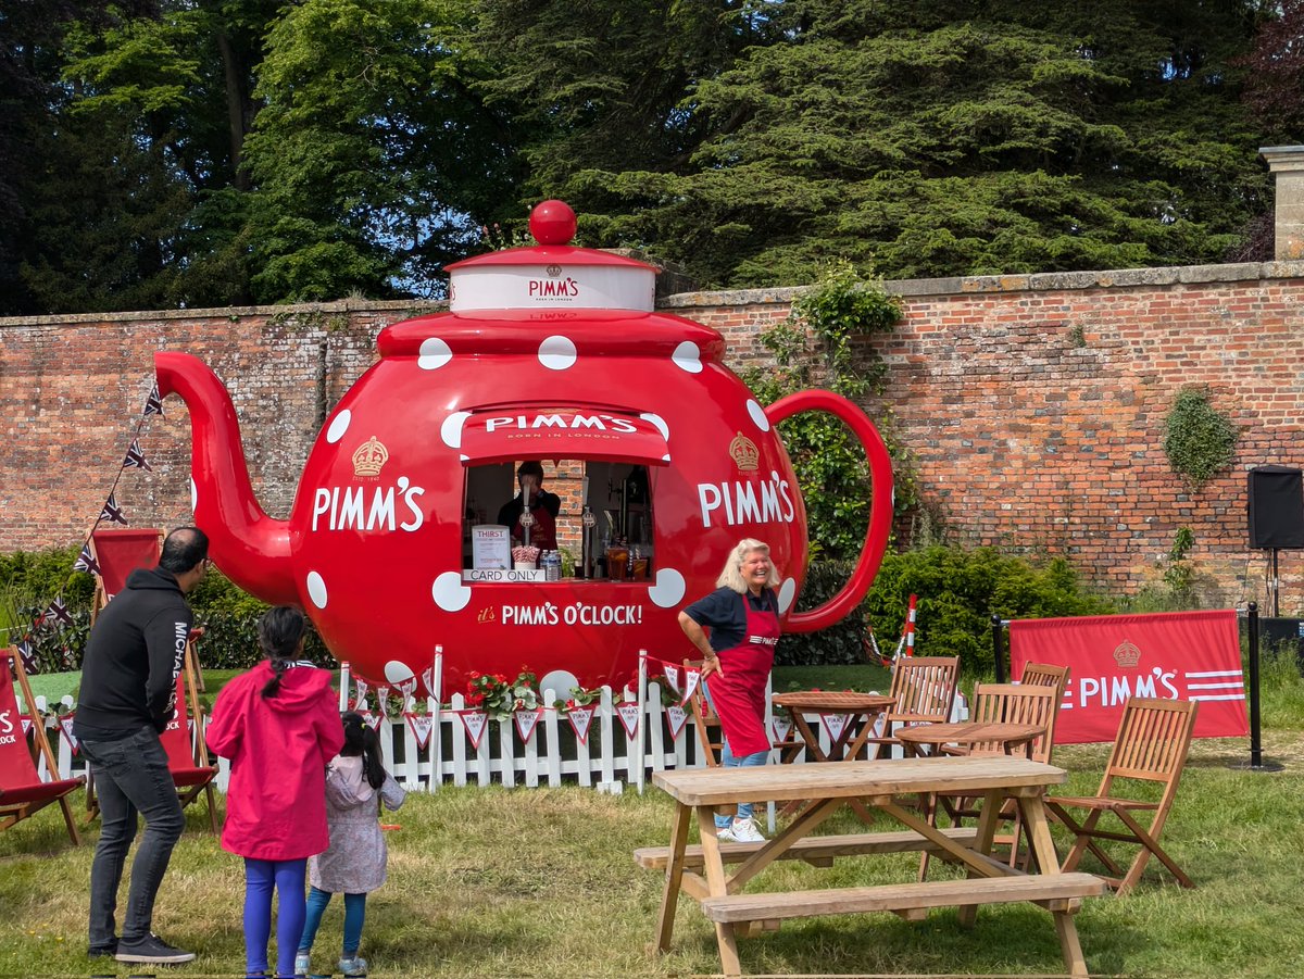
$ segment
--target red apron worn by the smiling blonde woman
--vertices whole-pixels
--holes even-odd
[[[724,673],[712,675],[707,687],[729,743],[729,753],[741,759],[771,748],[769,735],[765,734],[765,683],[775,665],[778,614],[756,611],[746,594],[739,594],[738,601],[747,613],[747,634],[733,649],[716,653]]]

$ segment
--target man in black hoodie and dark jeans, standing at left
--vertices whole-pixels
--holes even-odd
[[[126,588],[95,619],[82,662],[73,734],[95,773],[100,833],[90,868],[90,954],[120,962],[170,965],[194,953],[150,931],[154,897],[172,847],[185,828],[167,752],[159,742],[172,718],[176,678],[185,662],[192,614],[185,596],[203,580],[209,538],[194,527],[172,531],[159,566],[137,568]],[[132,884],[115,936],[113,913],[136,816],[145,833],[136,847]]]

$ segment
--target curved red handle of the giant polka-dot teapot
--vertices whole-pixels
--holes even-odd
[[[865,532],[865,544],[855,562],[855,570],[842,591],[823,605],[808,611],[797,611],[788,618],[789,632],[815,632],[827,628],[845,618],[865,597],[874,583],[874,576],[883,563],[892,532],[892,459],[883,437],[853,402],[842,395],[820,388],[798,391],[780,398],[765,409],[765,417],[772,425],[803,411],[824,411],[846,424],[861,441],[865,456],[870,463],[870,480],[874,486],[874,499],[870,503],[870,525]]]

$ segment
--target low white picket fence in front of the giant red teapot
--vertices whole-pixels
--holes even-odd
[[[621,699],[631,697],[630,691],[625,691]],[[542,703],[553,700],[553,695],[545,691]],[[67,708],[72,708],[69,697],[64,697],[63,703]],[[647,684],[647,696],[634,737],[626,733],[617,717],[615,703],[610,687],[602,687],[584,742],[576,737],[563,716],[557,710],[545,709],[527,740],[522,740],[510,718],[501,722],[489,721],[479,747],[475,748],[467,737],[462,717],[455,713],[466,707],[459,694],[451,697],[451,709],[441,709],[433,700],[426,701],[425,709],[433,721],[425,748],[417,746],[416,735],[402,717],[382,720],[378,734],[386,752],[386,767],[404,789],[416,791],[436,791],[443,783],[535,787],[557,786],[563,782],[576,782],[608,793],[619,793],[625,786],[643,791],[652,772],[705,765],[691,713],[678,737],[672,737],[657,683]],[[46,713],[48,705],[44,697],[37,697],[37,707]],[[952,720],[965,720],[968,716],[964,699],[957,696]],[[828,751],[831,748],[828,731],[819,723],[818,717],[812,716],[812,720],[811,726],[819,733],[820,747]],[[773,730],[771,722],[772,717],[767,712],[767,730]],[[57,742],[59,777],[70,778],[83,773],[85,763],[73,751],[68,738],[60,733],[52,716],[48,717],[46,726],[51,742]],[[803,747],[794,760],[805,763],[806,755]],[[777,760],[778,750],[775,750],[771,752],[771,761]],[[219,790],[226,791],[230,763],[220,759],[218,764],[216,785]],[[42,777],[46,777],[44,761],[42,760],[39,765]]]

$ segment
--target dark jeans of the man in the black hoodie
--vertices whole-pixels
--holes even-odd
[[[90,867],[90,944],[113,942],[117,885],[136,837],[137,813],[145,817],[145,834],[132,863],[123,941],[138,941],[150,933],[154,897],[185,828],[167,753],[149,725],[119,740],[83,740],[81,753],[94,770],[100,813],[99,843]]]

